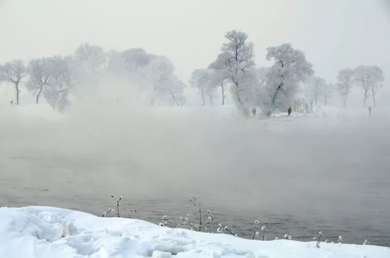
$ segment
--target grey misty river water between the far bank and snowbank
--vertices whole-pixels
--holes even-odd
[[[12,121],[3,125],[0,203],[48,205],[160,222],[194,216],[251,238],[390,246],[389,123],[364,117],[239,119],[174,115]]]

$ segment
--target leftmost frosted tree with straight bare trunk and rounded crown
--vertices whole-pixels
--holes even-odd
[[[27,76],[27,69],[24,65],[24,61],[15,59],[11,62],[7,62],[0,66],[0,73],[2,74],[0,77],[2,77],[3,80],[14,85],[16,91],[16,104],[19,105],[20,83],[23,82],[23,79]]]

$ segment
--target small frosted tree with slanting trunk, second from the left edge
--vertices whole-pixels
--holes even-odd
[[[32,59],[27,67],[29,74],[26,88],[35,94],[35,103],[39,103],[39,97],[52,79],[51,62],[48,58]]]

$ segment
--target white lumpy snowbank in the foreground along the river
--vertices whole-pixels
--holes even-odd
[[[52,207],[0,208],[1,258],[390,258],[390,248],[244,240]]]

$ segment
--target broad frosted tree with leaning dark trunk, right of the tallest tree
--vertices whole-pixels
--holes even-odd
[[[313,74],[312,64],[306,60],[305,54],[293,49],[291,44],[267,48],[267,60],[273,61],[267,76],[264,92],[263,110],[268,116],[277,109],[285,109],[292,102],[299,88]]]

